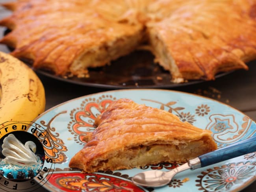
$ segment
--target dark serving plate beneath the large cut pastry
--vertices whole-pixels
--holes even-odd
[[[4,35],[9,32],[10,30],[5,30]],[[9,50],[12,51],[13,48],[9,48]],[[29,61],[23,61],[31,66]],[[120,57],[116,61],[112,61],[111,65],[90,68],[89,77],[87,78],[56,76],[47,70],[34,70],[39,74],[60,81],[106,89],[174,88],[204,82],[204,80],[187,81],[184,83],[171,82],[170,72],[154,63],[154,55],[143,50],[137,50],[129,55]],[[220,73],[215,78],[220,78],[230,73]]]

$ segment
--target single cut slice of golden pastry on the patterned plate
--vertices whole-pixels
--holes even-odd
[[[167,111],[129,99],[112,102],[95,121],[96,129],[69,162],[85,172],[185,162],[217,149],[211,131],[182,122]]]

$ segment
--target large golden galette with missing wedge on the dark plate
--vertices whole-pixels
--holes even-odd
[[[147,47],[174,82],[256,59],[256,0],[18,0],[0,42],[34,68],[83,76]],[[146,46],[145,46],[146,45]]]

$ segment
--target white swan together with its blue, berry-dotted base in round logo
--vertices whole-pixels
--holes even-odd
[[[20,134],[20,137],[24,136]],[[30,137],[30,133],[27,134]],[[34,136],[31,135],[31,137]],[[0,159],[1,175],[7,179],[18,179],[19,181],[32,179],[37,175],[43,166],[44,157],[40,153],[36,154],[37,145],[32,140],[23,144],[14,134],[9,134],[4,138],[2,143],[2,155],[4,157]]]

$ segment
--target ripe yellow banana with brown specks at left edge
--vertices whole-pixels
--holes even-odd
[[[15,57],[0,52],[0,125],[33,121],[45,111],[45,89],[35,72]]]

